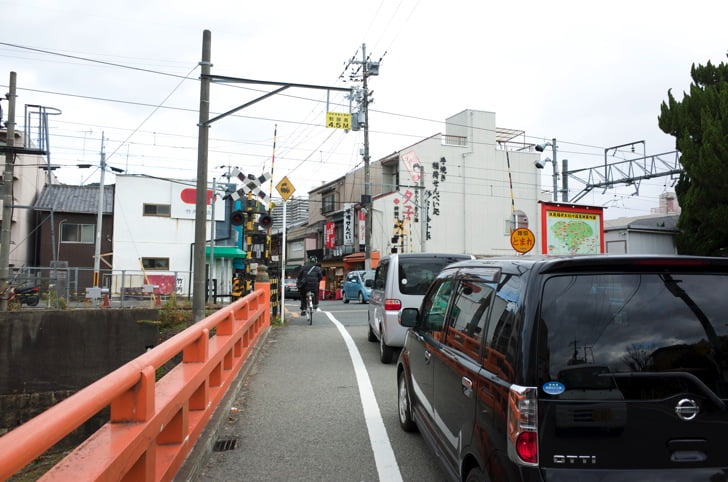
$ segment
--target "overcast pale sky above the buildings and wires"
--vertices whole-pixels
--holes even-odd
[[[0,86],[7,92],[17,73],[20,125],[26,104],[61,111],[51,116],[51,163],[68,184],[98,182],[98,170],[76,165],[99,163],[102,135],[110,166],[195,178],[205,29],[213,74],[275,82],[350,86],[341,74],[366,45],[381,60],[369,78],[372,161],[476,109],[526,142],[556,138],[569,170],[603,165],[606,148],[632,142],[644,141],[613,160],[674,151],[657,125],[660,104],[668,90],[679,99],[689,89],[693,63],[728,52],[725,0],[0,0],[0,9]],[[214,84],[212,115],[270,90]],[[208,179],[272,170],[274,184],[288,176],[306,196],[361,166],[363,133],[326,129],[326,101],[325,91],[292,88],[216,122]],[[329,102],[348,108],[339,92]],[[551,173],[549,164],[544,189]],[[580,202],[609,207],[607,219],[649,214],[672,184],[657,178],[639,196],[619,186]],[[581,187],[570,182],[571,195]]]

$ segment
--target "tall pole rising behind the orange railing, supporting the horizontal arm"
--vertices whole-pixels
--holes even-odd
[[[205,317],[205,223],[207,221],[207,147],[210,118],[210,52],[212,34],[202,33],[200,62],[200,117],[197,141],[197,198],[195,202],[195,249],[192,283],[192,316],[195,321]]]

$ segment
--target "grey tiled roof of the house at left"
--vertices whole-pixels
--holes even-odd
[[[60,213],[97,213],[99,210],[99,185],[68,186],[51,184],[45,186],[33,204],[36,211]],[[114,186],[104,186],[104,214],[114,211]]]

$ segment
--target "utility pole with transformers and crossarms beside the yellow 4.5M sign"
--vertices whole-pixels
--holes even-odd
[[[364,127],[364,195],[361,198],[361,205],[367,210],[365,218],[366,227],[364,230],[364,268],[371,269],[372,267],[372,183],[369,174],[369,103],[372,100],[369,98],[371,92],[369,92],[368,78],[370,76],[379,75],[379,61],[371,61],[367,57],[366,44],[361,46],[361,60],[355,60],[354,56],[346,66],[357,66],[353,72],[349,75],[351,80],[361,81],[362,91],[361,93],[355,93],[353,95],[354,100],[360,103],[360,110],[357,116],[354,117],[353,129],[358,130],[359,127]],[[359,94],[359,95],[357,95]],[[363,119],[359,116],[363,117]]]

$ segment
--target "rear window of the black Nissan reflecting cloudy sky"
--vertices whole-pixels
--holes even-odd
[[[543,383],[597,398],[612,388],[637,400],[706,388],[728,397],[728,275],[554,276],[540,321]]]

